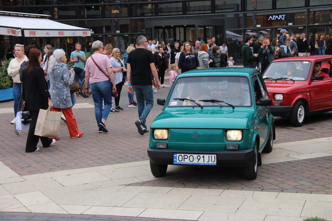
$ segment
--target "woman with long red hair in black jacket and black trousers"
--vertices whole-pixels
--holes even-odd
[[[30,111],[31,122],[26,143],[25,152],[39,150],[37,144],[41,140],[44,148],[55,143],[55,139],[39,137],[35,135],[35,129],[40,109],[47,110],[53,107],[51,96],[48,92],[44,71],[40,67],[41,51],[31,49],[29,52],[28,67],[22,74],[22,99],[24,100],[25,111]]]

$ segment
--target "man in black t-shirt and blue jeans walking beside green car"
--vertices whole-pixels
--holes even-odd
[[[135,122],[140,135],[149,131],[146,127],[146,117],[153,107],[153,90],[151,72],[157,82],[157,89],[160,89],[158,72],[155,67],[155,59],[151,51],[146,50],[148,41],[146,37],[140,35],[136,39],[137,47],[131,51],[127,60],[127,80],[128,91],[136,93],[138,103],[139,120]]]

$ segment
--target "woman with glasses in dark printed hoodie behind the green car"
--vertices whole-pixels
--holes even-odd
[[[179,56],[179,74],[191,71],[194,69],[200,69],[200,62],[198,61],[198,55],[193,49],[193,45],[189,42],[184,43],[183,51]]]

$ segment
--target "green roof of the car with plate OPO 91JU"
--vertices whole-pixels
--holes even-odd
[[[257,71],[255,68],[204,68],[188,71],[179,77],[199,77],[199,76],[220,76],[234,75],[250,77],[252,73]]]

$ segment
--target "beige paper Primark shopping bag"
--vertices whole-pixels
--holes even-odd
[[[61,112],[39,110],[35,135],[40,137],[60,137]]]

